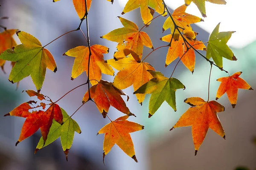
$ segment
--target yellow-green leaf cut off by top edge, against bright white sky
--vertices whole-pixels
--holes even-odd
[[[192,1],[198,7],[198,9],[201,12],[203,17],[206,17],[205,1],[210,2],[210,3],[226,5],[226,1],[225,0],[185,0],[186,6],[189,6]]]

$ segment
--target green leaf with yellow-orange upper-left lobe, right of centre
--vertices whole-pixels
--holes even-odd
[[[158,108],[166,101],[174,111],[176,111],[175,92],[185,86],[175,78],[164,77],[159,71],[148,70],[153,78],[134,91],[134,94],[151,94],[149,99],[148,118],[150,118]]]

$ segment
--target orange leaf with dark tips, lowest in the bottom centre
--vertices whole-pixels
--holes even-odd
[[[138,162],[135,156],[134,144],[131,140],[130,133],[143,130],[144,126],[134,122],[129,122],[126,120],[128,117],[129,116],[126,115],[111,121],[108,125],[102,127],[102,129],[97,133],[97,135],[105,133],[103,142],[103,162],[105,155],[109,153],[115,144],[117,144],[124,153],[134,159],[134,161]]]

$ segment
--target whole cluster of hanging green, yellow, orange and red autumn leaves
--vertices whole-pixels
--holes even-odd
[[[58,0],[54,0],[54,2],[55,1]],[[113,0],[108,1],[113,3]],[[124,27],[117,28],[101,37],[118,43],[116,46],[117,51],[113,54],[113,59],[104,60],[103,54],[108,53],[108,47],[103,45],[90,45],[88,11],[92,0],[73,0],[81,23],[77,29],[65,34],[79,30],[83,33],[81,24],[83,20],[86,20],[87,37],[85,37],[84,33],[83,35],[87,40],[88,46],[72,48],[63,55],[75,57],[71,72],[72,80],[81,75],[84,71],[87,74],[87,82],[83,85],[88,85],[88,91],[84,94],[82,105],[89,101],[94,102],[104,118],[108,117],[110,119],[108,116],[110,106],[126,114],[114,121],[110,119],[111,122],[98,132],[98,134],[105,134],[103,142],[103,161],[105,155],[109,153],[114,144],[117,144],[128,156],[137,161],[134,152],[134,144],[129,133],[142,130],[144,126],[127,120],[129,116],[135,115],[131,113],[125,101],[122,99],[123,95],[127,96],[122,89],[133,85],[134,94],[140,104],[143,103],[146,94],[151,94],[148,117],[153,116],[164,101],[166,101],[174,111],[177,110],[175,92],[177,89],[185,90],[185,86],[178,79],[172,77],[175,69],[171,77],[165,77],[162,73],[156,71],[148,62],[144,62],[153,51],[162,47],[168,47],[165,66],[167,67],[171,62],[179,58],[177,64],[181,60],[192,73],[195,69],[195,53],[204,57],[209,62],[211,69],[212,65],[214,65],[220,68],[221,71],[225,71],[222,64],[223,57],[229,60],[236,60],[233,52],[227,46],[227,41],[234,31],[219,32],[220,24],[218,24],[212,31],[208,42],[201,42],[196,39],[198,33],[192,30],[191,24],[204,20],[186,13],[186,8],[192,1],[198,6],[203,17],[206,17],[205,1],[218,4],[226,3],[224,0],[185,0],[185,4],[175,9],[173,14],[171,14],[164,0],[128,0],[122,14],[140,8],[141,17],[145,26],[139,29],[135,23],[123,17],[118,17]],[[155,11],[159,13],[159,15],[153,18]],[[168,42],[167,45],[154,49],[150,37],[146,32],[142,31],[142,29],[148,27],[150,23],[159,16],[168,16],[163,23],[162,29],[166,31],[170,28],[171,34],[160,38],[160,40]],[[26,32],[13,29],[7,30],[3,26],[1,27],[4,28],[5,31],[0,33],[0,65],[3,68],[6,60],[12,62],[13,68],[9,75],[9,81],[12,83],[19,82],[30,75],[37,92],[28,90],[26,93],[29,96],[37,96],[39,100],[48,102],[47,104],[40,102],[40,105],[36,105],[37,102],[35,101],[25,102],[5,115],[26,118],[16,145],[40,128],[42,138],[38,142],[35,152],[52,143],[58,139],[58,137],[61,137],[61,145],[67,158],[68,151],[73,143],[75,131],[81,133],[80,127],[76,121],[71,118],[74,113],[69,116],[56,104],[56,102],[65,95],[56,102],[52,102],[49,97],[40,94],[46,68],[54,72],[57,71],[57,66],[52,54],[45,48],[51,42],[43,46],[39,40]],[[15,31],[22,43],[20,45],[16,45],[12,38]],[[205,46],[205,44],[207,44],[207,46]],[[151,48],[153,51],[143,58],[144,46]],[[199,50],[206,51],[206,56],[201,54]],[[211,58],[213,61],[210,60]],[[112,67],[118,70],[113,82],[103,80],[102,74],[114,76]],[[217,79],[221,84],[216,94],[216,100],[227,93],[230,103],[233,108],[235,108],[238,89],[253,90],[253,88],[239,77],[241,72],[237,72],[232,76],[230,76],[228,71],[225,72],[228,74],[228,77]],[[224,129],[217,116],[218,112],[224,111],[224,106],[216,101],[209,101],[209,86],[207,101],[200,97],[190,97],[185,99],[184,102],[191,107],[180,117],[172,129],[176,127],[192,126],[195,154],[204,141],[209,128],[225,139]]]

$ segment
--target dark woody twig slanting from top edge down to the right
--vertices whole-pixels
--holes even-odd
[[[173,22],[173,24],[174,24],[174,26],[175,26],[175,31],[176,31],[176,29],[177,29],[177,31],[180,33],[180,36],[183,38],[183,41],[185,42],[185,44],[187,43],[191,48],[193,48],[193,50],[195,50],[199,55],[201,55],[201,57],[203,57],[204,59],[206,59],[211,65],[215,65],[215,66],[218,67],[221,71],[225,71],[226,73],[229,74],[228,71],[226,71],[226,70],[224,70],[223,68],[219,67],[219,66],[216,65],[213,61],[207,59],[207,57],[205,57],[203,54],[201,54],[197,49],[195,49],[195,48],[193,47],[193,45],[191,45],[191,44],[186,40],[186,38],[183,36],[183,34],[181,33],[181,31],[180,31],[180,29],[179,29],[179,28],[181,28],[181,27],[180,27],[180,26],[177,26],[177,24],[175,23],[175,21],[174,21],[174,19],[173,19],[173,17],[172,17],[172,14],[170,13],[169,9],[168,9],[167,6],[166,6],[165,1],[164,1],[164,0],[162,0],[162,1],[163,1],[163,5],[165,6],[165,8],[166,8],[166,10],[167,10],[167,12],[168,12],[168,14],[169,14],[169,16],[170,16],[171,19],[172,19],[172,22]],[[181,28],[181,29],[184,30],[184,28]]]

